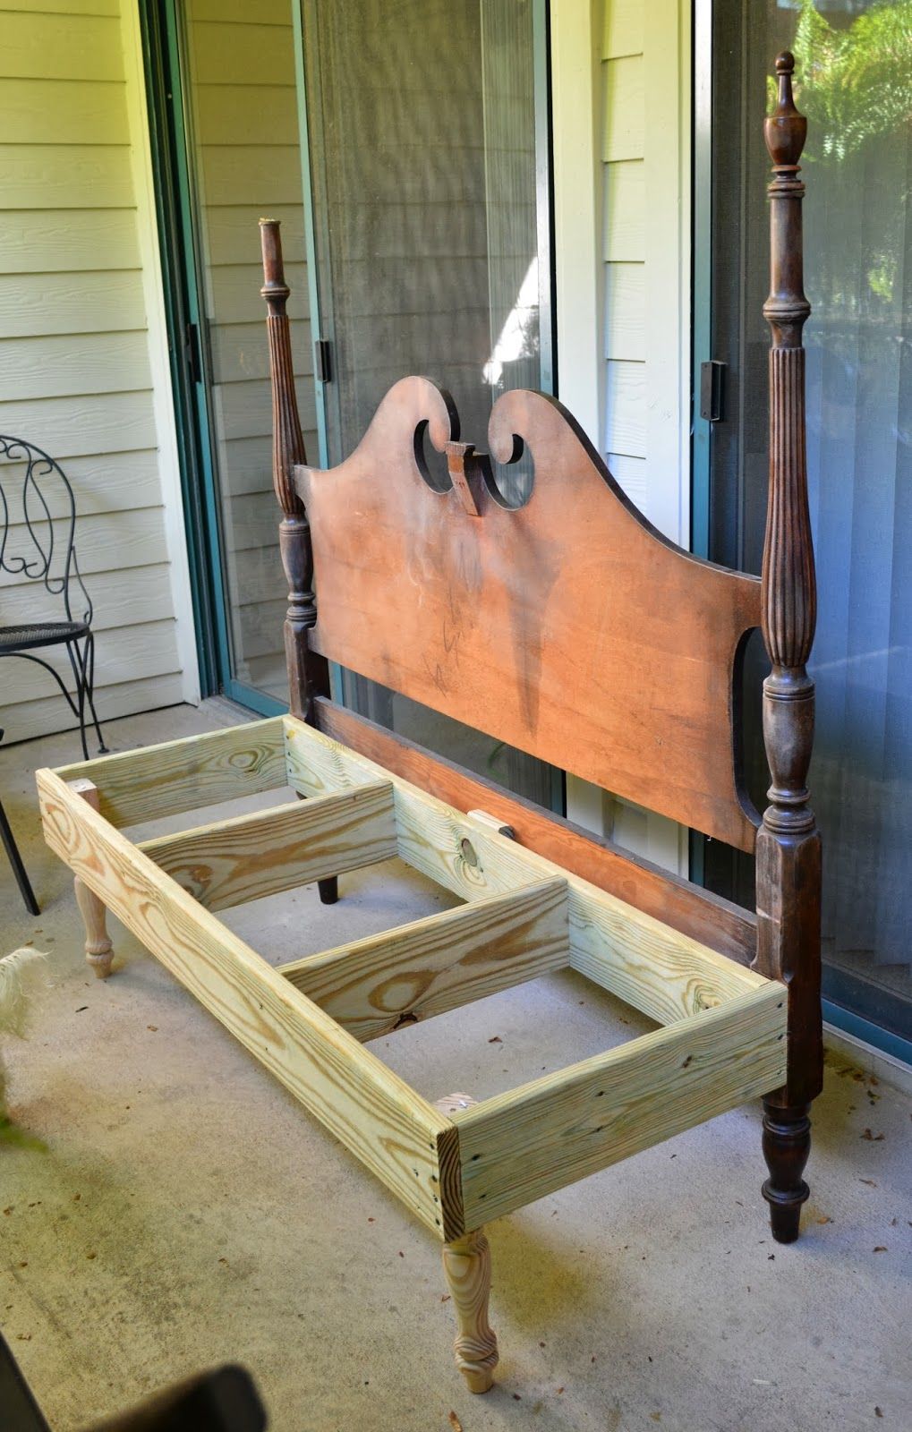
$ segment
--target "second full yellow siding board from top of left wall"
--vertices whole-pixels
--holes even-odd
[[[27,145],[109,145],[129,135],[126,84],[4,79],[3,137]]]

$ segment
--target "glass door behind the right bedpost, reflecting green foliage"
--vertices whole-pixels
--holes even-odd
[[[729,384],[726,421],[712,434],[710,556],[753,571],[766,508],[769,344],[760,312],[769,159],[756,116],[782,49],[795,52],[796,102],[809,120],[805,344],[819,583],[810,789],[825,842],[825,992],[909,1040],[912,3],[714,7],[706,357],[729,364]],[[719,884],[730,892],[730,878]]]

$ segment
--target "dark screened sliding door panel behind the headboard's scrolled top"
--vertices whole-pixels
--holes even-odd
[[[500,392],[551,385],[544,3],[304,0],[302,17],[325,460],[351,453],[414,372],[452,392],[465,440],[484,448]],[[442,460],[430,465],[445,477]],[[521,501],[528,465],[508,481]],[[354,673],[344,690],[402,735],[560,803],[551,768]]]

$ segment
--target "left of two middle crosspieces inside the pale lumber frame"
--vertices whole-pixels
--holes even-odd
[[[321,800],[218,821],[139,846],[206,909],[229,909],[397,853],[392,786],[356,786]]]

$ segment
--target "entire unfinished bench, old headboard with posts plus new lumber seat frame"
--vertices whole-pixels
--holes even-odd
[[[763,1191],[777,1239],[797,1236],[807,1197],[807,1106],[822,1057],[819,836],[805,789],[813,720],[800,347],[809,308],[796,178],[805,122],[792,103],[792,57],[780,56],[776,69],[779,107],[766,122],[775,179],[773,296],[765,312],[773,348],[762,587],[666,543],[630,508],[573,420],[537,395],[507,394],[491,420],[501,461],[515,457],[521,435],[537,474],[540,465],[554,470],[537,475],[523,516],[505,508],[490,461],[458,441],[451,401],[427,379],[391,391],[339,468],[306,468],[278,223],[262,221],[292,715],[37,772],[44,835],[76,875],[96,972],[110,971],[107,908],[442,1240],[457,1363],[475,1392],[491,1385],[497,1363],[485,1221],[760,1095],[770,1173]],[[425,430],[447,454],[447,494],[427,485],[418,442]],[[558,481],[564,488],[548,498]],[[583,526],[573,528],[580,494]],[[557,626],[545,639],[543,554],[566,541],[584,567],[590,526],[596,556],[621,564],[620,596],[600,606],[603,569],[596,581],[591,571],[570,571],[563,593],[547,577],[541,593],[556,603]],[[424,563],[412,583],[418,596],[402,597],[415,551]],[[507,579],[504,561],[514,563]],[[485,623],[454,614],[462,579]],[[387,632],[377,643],[384,629],[365,623],[375,601],[385,603],[395,640]],[[641,629],[623,700],[591,700],[586,680],[573,699],[561,696],[560,683],[570,689],[576,680],[567,663],[580,653],[580,611],[598,660],[630,653]],[[733,677],[757,620],[773,667],[765,684],[773,783],[762,823],[740,789]],[[567,629],[573,642],[561,646]],[[653,808],[742,848],[756,839],[757,916],[334,705],[329,660],[349,660],[419,700],[437,689],[437,709],[462,719],[485,692],[484,667],[493,702],[480,716],[491,735],[545,759],[563,739],[563,763],[576,773],[631,799],[650,796]],[[687,683],[674,674],[679,662],[693,673]],[[671,717],[663,705],[669,682]],[[551,707],[564,705],[543,710],[540,690]],[[140,843],[122,833],[282,786],[304,799]],[[341,874],[391,856],[464,904],[279,968],[215,915],[309,881],[332,902]],[[566,967],[660,1028],[481,1103],[454,1094],[432,1104],[364,1048]]]

